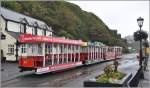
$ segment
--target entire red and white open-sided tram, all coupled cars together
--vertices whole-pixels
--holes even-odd
[[[34,70],[36,74],[116,59],[122,51],[121,47],[52,36],[21,34],[18,41],[20,71]]]

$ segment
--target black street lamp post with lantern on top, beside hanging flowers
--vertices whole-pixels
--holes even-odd
[[[139,27],[140,27],[140,37],[142,37],[141,36],[141,28],[142,28],[142,26],[143,26],[143,21],[144,21],[144,19],[142,18],[142,17],[139,17],[138,19],[137,19],[137,23],[138,23],[138,25],[139,25]],[[143,60],[143,52],[142,52],[142,38],[140,39],[140,67],[142,68],[142,60]]]

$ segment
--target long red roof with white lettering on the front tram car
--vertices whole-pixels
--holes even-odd
[[[72,40],[65,39],[62,37],[52,37],[52,36],[37,36],[31,34],[21,34],[18,37],[19,42],[22,43],[60,43],[60,44],[73,44],[73,45],[84,45],[85,42],[82,40]]]

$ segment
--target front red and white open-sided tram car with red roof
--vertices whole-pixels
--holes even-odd
[[[41,74],[82,65],[80,48],[84,42],[81,40],[22,34],[19,42],[22,71],[35,70]]]

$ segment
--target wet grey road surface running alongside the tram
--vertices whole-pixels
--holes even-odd
[[[138,61],[135,57],[135,54],[124,55],[123,59],[119,60],[121,63],[119,70],[125,72],[133,71],[134,73],[134,70],[138,68]],[[12,64],[10,69],[7,64],[6,66],[2,65],[4,71],[2,71],[1,74],[1,85],[2,87],[83,87],[83,81],[102,73],[105,65],[111,63],[112,62],[100,63],[88,67],[78,67],[67,71],[42,75],[35,75],[32,73],[20,74],[18,73],[16,64]],[[6,75],[6,73],[8,75]],[[9,78],[9,73],[12,74],[11,78]]]

